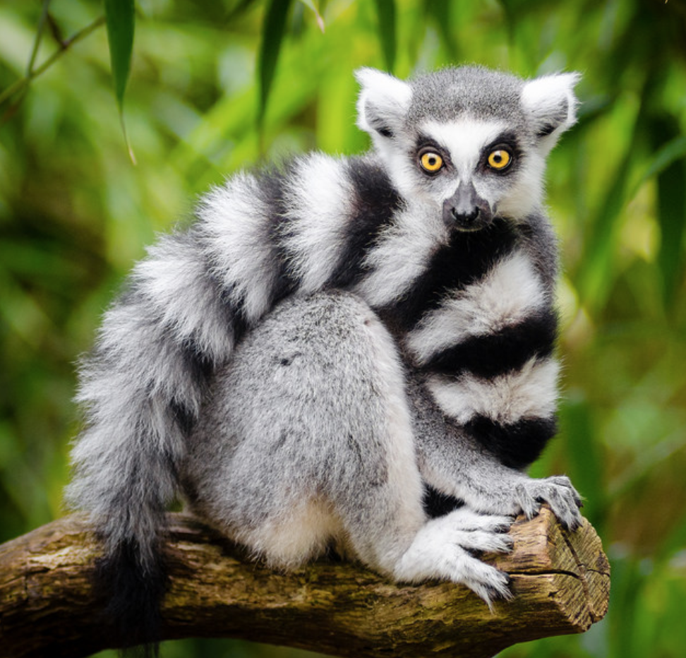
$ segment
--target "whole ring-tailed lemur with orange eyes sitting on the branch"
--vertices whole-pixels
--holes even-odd
[[[474,551],[509,550],[512,515],[545,501],[579,524],[566,477],[522,472],[555,432],[543,169],[577,75],[357,78],[373,150],[207,194],[136,265],[83,365],[68,499],[131,642],[157,621],[176,496],[275,566],[333,542],[489,604],[507,576]]]

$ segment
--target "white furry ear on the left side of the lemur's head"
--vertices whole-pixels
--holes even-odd
[[[402,126],[412,91],[407,83],[375,68],[359,68],[357,125],[372,136],[392,137]]]

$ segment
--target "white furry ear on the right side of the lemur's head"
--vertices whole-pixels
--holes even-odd
[[[548,150],[577,121],[574,85],[579,78],[579,73],[555,73],[524,84],[522,105],[534,122],[541,145]]]

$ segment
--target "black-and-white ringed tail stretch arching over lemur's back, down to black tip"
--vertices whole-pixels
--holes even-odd
[[[164,513],[208,376],[279,299],[361,276],[392,220],[395,193],[378,202],[385,173],[353,164],[315,155],[282,174],[235,177],[205,197],[197,222],[148,250],[104,316],[81,371],[85,430],[67,497],[92,515],[104,546],[98,587],[131,644],[158,637]]]

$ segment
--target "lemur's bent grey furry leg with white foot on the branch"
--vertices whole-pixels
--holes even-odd
[[[405,385],[395,343],[361,300],[285,301],[213,384],[183,473],[189,500],[276,566],[336,542],[397,580],[505,595],[507,576],[470,551],[507,551],[509,519],[426,517]]]

